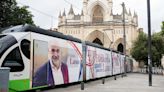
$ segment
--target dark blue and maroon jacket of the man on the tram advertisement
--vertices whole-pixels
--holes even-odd
[[[69,83],[68,67],[66,64],[61,63],[61,71],[63,75],[64,84]],[[50,61],[48,61],[36,71],[33,77],[32,86],[37,87],[37,86],[54,85],[55,84],[54,80],[55,79],[53,79],[53,73],[52,73]]]

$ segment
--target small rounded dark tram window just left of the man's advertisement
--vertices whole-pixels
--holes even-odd
[[[30,59],[30,41],[29,40],[22,40],[21,41],[21,50],[23,54]]]

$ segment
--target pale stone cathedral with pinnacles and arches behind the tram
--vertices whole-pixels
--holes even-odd
[[[112,0],[83,0],[81,14],[75,14],[71,5],[68,13],[64,10],[59,14],[58,31],[123,52],[123,12],[113,14],[112,8]],[[131,14],[126,8],[124,11],[126,53],[130,54],[132,43],[142,28],[138,28],[135,12]]]

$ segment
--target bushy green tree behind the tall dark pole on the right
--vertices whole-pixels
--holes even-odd
[[[131,55],[137,61],[144,61],[147,65],[148,60],[148,37],[145,33],[140,32],[137,40],[134,42]],[[151,55],[152,62],[154,65],[161,65],[161,57],[164,53],[164,38],[160,33],[155,33],[152,35],[152,45],[151,45]]]

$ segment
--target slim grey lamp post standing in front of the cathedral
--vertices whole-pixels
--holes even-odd
[[[121,4],[122,5],[122,9],[123,9],[123,20],[122,20],[122,22],[123,22],[123,38],[124,38],[124,50],[123,50],[123,52],[124,52],[124,55],[125,55],[125,58],[124,58],[124,74],[125,74],[125,76],[126,76],[126,34],[125,34],[125,4],[124,4],[124,2]]]

